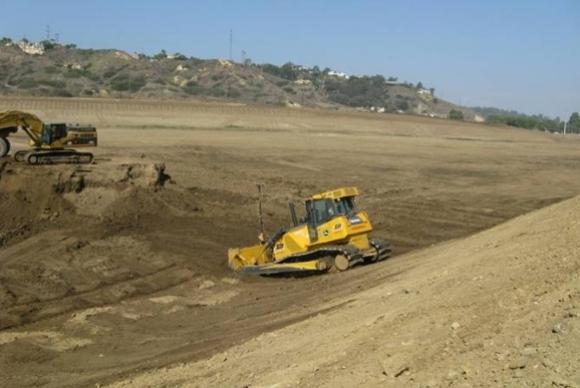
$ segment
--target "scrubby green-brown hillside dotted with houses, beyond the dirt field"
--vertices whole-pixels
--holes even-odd
[[[474,114],[434,90],[345,76],[325,69],[239,64],[165,52],[148,57],[120,50],[79,49],[54,42],[0,41],[0,94],[52,97],[222,99],[318,108],[352,108],[447,117]]]

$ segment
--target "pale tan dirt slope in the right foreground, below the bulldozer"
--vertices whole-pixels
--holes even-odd
[[[115,387],[580,386],[580,197],[399,256],[388,282]]]

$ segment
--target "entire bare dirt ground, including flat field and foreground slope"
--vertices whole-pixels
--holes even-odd
[[[576,348],[561,351],[578,343],[578,201],[462,239],[577,195],[575,137],[235,104],[3,98],[0,109],[99,130],[90,166],[0,161],[1,386],[580,384]],[[256,241],[257,183],[269,231],[289,224],[288,201],[358,186],[396,256],[336,275],[236,276],[226,250]],[[492,254],[496,241],[505,249]],[[510,364],[528,342],[549,366]],[[379,361],[365,374],[367,350]]]

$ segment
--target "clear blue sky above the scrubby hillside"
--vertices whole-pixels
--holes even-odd
[[[382,74],[467,106],[580,111],[580,0],[0,0],[0,36]],[[9,17],[7,17],[7,15]]]

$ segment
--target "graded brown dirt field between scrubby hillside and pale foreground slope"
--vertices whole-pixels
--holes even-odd
[[[432,264],[405,252],[580,191],[574,137],[225,104],[0,99],[10,108],[92,122],[100,140],[86,167],[0,161],[1,386],[94,386],[210,359],[348,309],[339,303],[366,289],[412,283],[409,271]],[[163,184],[160,164],[171,176]],[[237,277],[226,250],[256,241],[256,183],[266,187],[269,231],[290,222],[289,200],[359,186],[375,235],[400,256],[337,276]],[[485,305],[494,289],[483,290]]]

